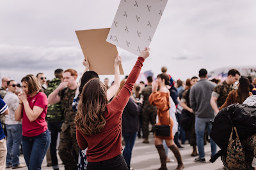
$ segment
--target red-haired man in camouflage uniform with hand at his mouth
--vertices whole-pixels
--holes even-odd
[[[76,112],[72,110],[77,89],[76,79],[76,70],[67,69],[63,73],[63,82],[48,97],[49,104],[56,104],[60,101],[63,104],[64,122],[61,125],[59,155],[67,170],[77,169],[79,152],[76,140],[76,125],[74,124]]]

